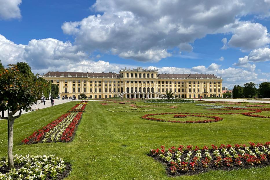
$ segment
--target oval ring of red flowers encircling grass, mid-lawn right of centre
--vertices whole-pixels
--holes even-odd
[[[167,115],[167,114],[177,114],[179,117],[181,115],[185,116],[193,116],[193,117],[207,117],[207,118],[212,118],[213,120],[207,119],[207,120],[196,120],[196,121],[175,121],[175,120],[164,120],[160,118],[155,118],[155,117],[149,117],[149,116],[154,116],[154,115]],[[159,122],[175,122],[175,123],[208,123],[208,122],[218,122],[222,121],[223,118],[218,117],[218,116],[207,116],[207,115],[197,115],[197,114],[190,114],[190,113],[158,113],[158,114],[146,114],[142,116],[143,119],[150,120],[150,121],[159,121]]]

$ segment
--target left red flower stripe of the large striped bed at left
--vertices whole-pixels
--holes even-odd
[[[38,143],[41,138],[45,135],[45,133],[49,132],[52,128],[54,128],[57,124],[59,124],[61,121],[63,121],[70,113],[65,113],[62,116],[58,117],[53,122],[47,124],[47,126],[44,126],[43,128],[39,129],[38,131],[35,131],[32,135],[22,140],[23,144],[32,144],[32,143]]]

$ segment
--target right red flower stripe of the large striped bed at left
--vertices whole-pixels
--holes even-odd
[[[73,119],[73,121],[69,124],[69,126],[63,132],[61,140],[63,142],[70,142],[71,138],[75,135],[75,130],[80,120],[82,119],[82,112],[79,112]]]

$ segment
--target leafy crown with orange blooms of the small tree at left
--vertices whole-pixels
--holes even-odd
[[[16,65],[0,69],[0,111],[28,111],[46,86],[25,77]]]

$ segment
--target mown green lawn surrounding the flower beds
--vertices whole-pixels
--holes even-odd
[[[79,179],[269,179],[270,167],[168,177],[165,167],[147,153],[160,145],[210,146],[270,140],[270,119],[244,115],[218,115],[221,122],[180,124],[141,119],[148,113],[198,112],[209,113],[203,106],[185,103],[177,109],[156,109],[153,112],[108,112],[112,107],[89,102],[86,112],[70,143],[20,145],[25,137],[64,114],[77,102],[68,102],[22,115],[14,123],[14,154],[55,154],[72,164],[67,180]],[[143,105],[137,102],[136,105]],[[157,104],[155,104],[157,105]],[[126,105],[124,105],[126,106]],[[220,112],[220,111],[217,111]],[[229,112],[229,111],[226,111]],[[231,111],[234,112],[234,111]],[[270,112],[263,112],[270,115]],[[168,115],[168,117],[170,117]],[[172,116],[171,116],[172,117]],[[178,119],[178,118],[169,118]],[[181,119],[181,118],[179,118]],[[183,118],[184,119],[184,118]],[[199,120],[199,118],[196,118]],[[7,155],[7,122],[0,121],[0,157]]]

